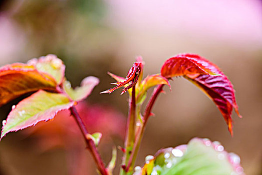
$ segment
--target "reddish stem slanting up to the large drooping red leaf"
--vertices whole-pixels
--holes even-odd
[[[133,168],[133,166],[135,164],[136,156],[137,156],[137,153],[138,153],[138,150],[139,150],[139,147],[140,147],[140,143],[141,143],[141,140],[142,140],[142,137],[143,137],[143,133],[144,133],[144,130],[145,130],[145,127],[146,127],[146,123],[148,121],[148,118],[151,115],[151,110],[152,110],[153,105],[154,105],[154,103],[157,99],[157,96],[162,91],[163,86],[164,86],[164,84],[160,84],[154,89],[154,92],[153,92],[152,96],[150,97],[149,102],[146,105],[146,109],[145,109],[144,115],[143,115],[144,122],[141,125],[141,127],[139,127],[138,130],[137,130],[136,140],[135,140],[133,149],[131,151],[131,155],[129,157],[126,169]]]

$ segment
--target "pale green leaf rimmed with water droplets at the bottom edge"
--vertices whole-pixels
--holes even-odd
[[[194,138],[188,145],[161,149],[155,156],[147,156],[146,164],[135,174],[244,175],[245,173],[240,165],[240,157],[235,153],[224,151],[224,147],[218,141]]]

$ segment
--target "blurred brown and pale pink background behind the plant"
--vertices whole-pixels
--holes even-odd
[[[262,174],[261,14],[261,0],[1,0],[0,65],[56,54],[65,62],[66,77],[73,86],[87,75],[99,77],[100,84],[87,99],[87,111],[94,111],[97,105],[105,110],[109,106],[110,112],[104,112],[111,113],[108,117],[113,110],[125,118],[126,94],[99,94],[114,81],[107,71],[125,76],[135,56],[142,55],[145,75],[153,74],[174,54],[198,53],[218,64],[235,85],[244,118],[233,114],[234,137],[216,106],[194,85],[176,78],[171,82],[172,92],[167,88],[154,107],[156,117],[148,123],[137,164],[142,165],[144,157],[160,147],[187,143],[200,136],[221,141],[226,150],[242,157],[247,174],[257,175]],[[1,120],[15,103],[1,107]],[[101,118],[104,113],[84,116]],[[69,118],[68,113],[60,115]],[[60,115],[57,121],[63,117]],[[115,120],[123,126],[122,119]],[[48,129],[47,125],[52,127],[57,121],[41,125]],[[103,122],[97,119],[94,123],[98,121]],[[91,126],[92,131],[101,128],[100,124]],[[43,140],[48,143],[48,139],[61,137],[53,130],[50,138],[32,134],[30,129],[8,134],[0,143],[0,174],[95,174],[88,152],[79,153],[84,144],[76,144],[73,149],[69,146],[70,151],[55,141],[50,141],[57,144],[52,149],[39,146]],[[115,132],[105,132],[113,139],[102,138],[99,148],[108,162],[112,145],[123,145],[123,137],[115,139]],[[75,159],[81,163],[75,163]],[[79,167],[83,170],[70,170]]]

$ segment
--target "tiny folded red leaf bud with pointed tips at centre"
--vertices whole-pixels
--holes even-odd
[[[100,93],[112,93],[114,90],[127,85],[124,88],[124,90],[121,92],[121,94],[126,92],[129,88],[133,87],[136,84],[139,74],[140,74],[141,65],[142,65],[141,62],[135,62],[133,66],[130,68],[130,70],[128,71],[127,76],[123,81],[118,81],[118,82],[113,83],[113,84],[116,84],[115,87],[102,91]]]

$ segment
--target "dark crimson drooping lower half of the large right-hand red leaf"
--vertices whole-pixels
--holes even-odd
[[[221,111],[224,119],[228,124],[230,133],[233,135],[232,130],[232,110],[233,108],[237,114],[242,117],[238,110],[238,105],[235,98],[235,92],[232,83],[223,72],[221,76],[203,75],[197,77],[184,76],[201,90],[203,90],[217,105]]]

